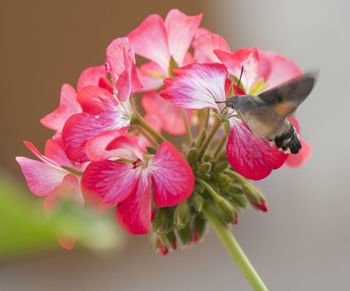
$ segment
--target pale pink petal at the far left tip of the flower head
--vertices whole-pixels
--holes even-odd
[[[26,178],[28,187],[37,196],[45,196],[55,190],[68,174],[62,168],[25,157],[16,157]]]

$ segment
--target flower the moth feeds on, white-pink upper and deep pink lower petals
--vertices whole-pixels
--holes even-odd
[[[220,104],[216,102],[226,99],[227,70],[224,65],[193,64],[175,72],[175,77],[164,82],[163,98],[188,109],[213,108],[221,111]],[[267,146],[235,117],[230,118],[226,151],[231,166],[253,180],[265,178],[272,169],[282,166],[287,158],[276,147]]]

